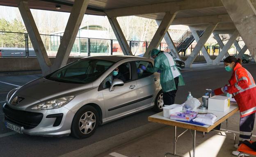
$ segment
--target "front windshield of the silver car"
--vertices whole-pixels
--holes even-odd
[[[45,78],[57,82],[89,83],[96,80],[113,64],[114,62],[106,60],[78,60],[47,75]]]

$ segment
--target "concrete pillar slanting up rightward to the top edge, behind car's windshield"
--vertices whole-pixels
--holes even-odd
[[[65,66],[68,62],[70,52],[78,34],[82,19],[85,15],[88,3],[89,0],[75,0],[54,64],[50,69],[51,71],[55,71],[62,66]]]

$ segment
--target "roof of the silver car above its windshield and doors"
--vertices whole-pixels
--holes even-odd
[[[112,62],[118,62],[120,60],[128,59],[128,58],[137,58],[141,59],[143,57],[136,57],[131,55],[101,55],[101,56],[92,56],[92,57],[85,57],[83,59],[91,59],[91,60],[108,60]]]

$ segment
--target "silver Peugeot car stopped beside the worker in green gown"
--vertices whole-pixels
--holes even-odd
[[[153,60],[132,56],[87,57],[10,91],[5,124],[18,133],[91,136],[98,124],[153,108],[161,111],[160,73]]]

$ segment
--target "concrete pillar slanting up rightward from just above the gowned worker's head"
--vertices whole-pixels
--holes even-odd
[[[166,32],[168,31],[171,22],[174,20],[176,16],[175,14],[171,14],[170,12],[166,12],[165,16],[162,20],[162,22],[160,23],[157,31],[155,32],[155,35],[153,36],[153,39],[151,40],[148,49],[146,50],[146,53],[144,54],[144,57],[150,57],[150,51],[152,49],[157,49],[160,42],[162,41],[162,39],[164,38]]]

